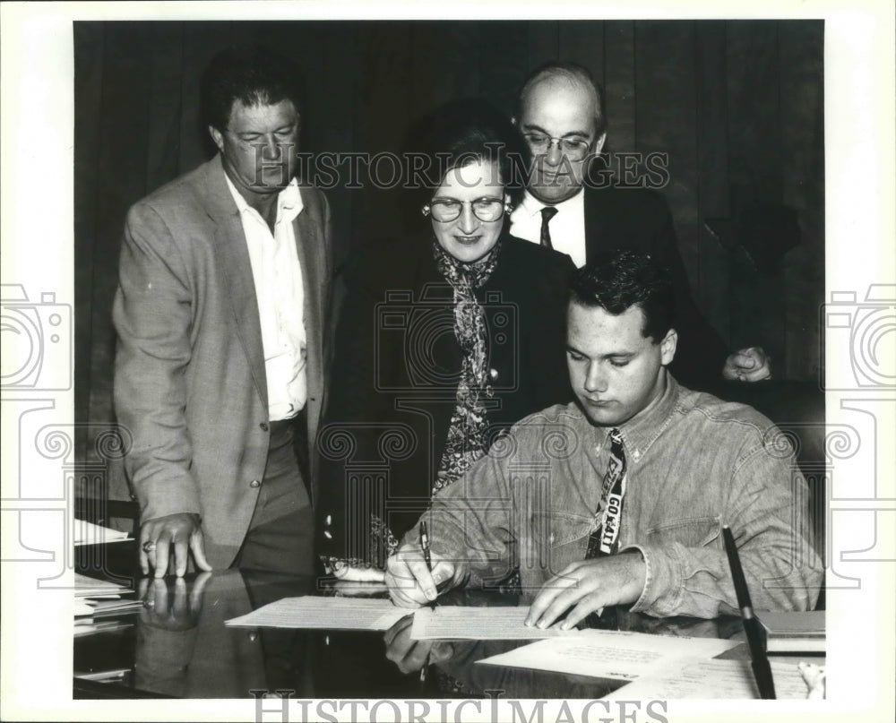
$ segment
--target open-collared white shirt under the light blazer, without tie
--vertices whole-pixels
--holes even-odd
[[[296,179],[277,196],[274,232],[227,179],[237,203],[262,327],[264,374],[271,422],[295,417],[305,406],[305,289],[293,221],[304,208]]]

